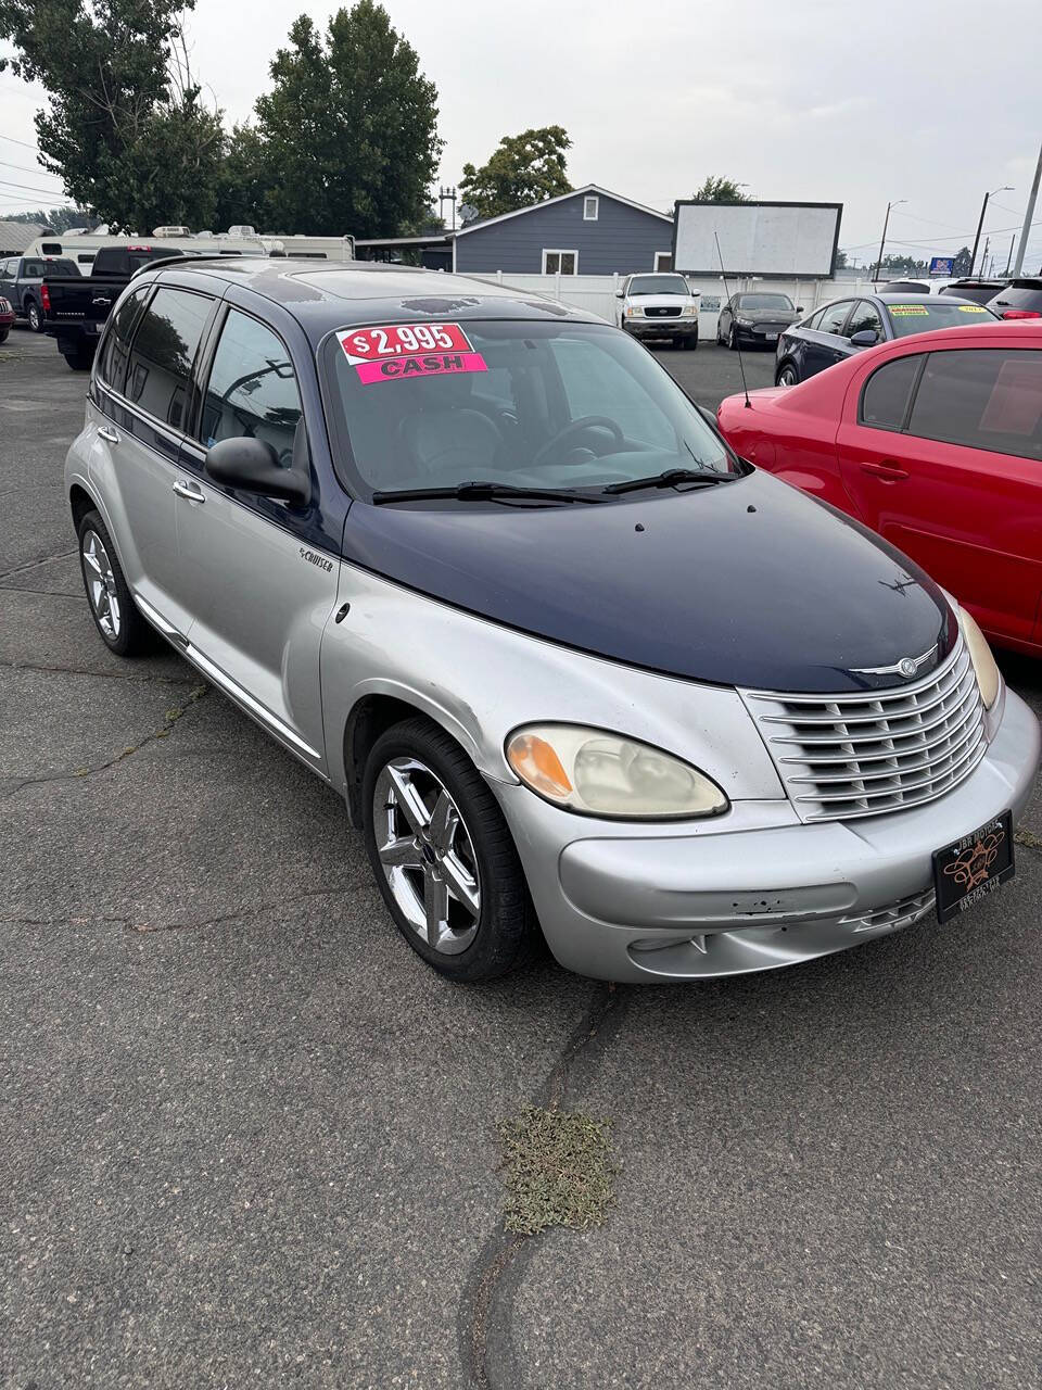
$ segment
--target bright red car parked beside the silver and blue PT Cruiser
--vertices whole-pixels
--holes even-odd
[[[736,453],[878,531],[995,642],[1042,656],[1042,324],[902,338],[749,400],[717,410]]]

